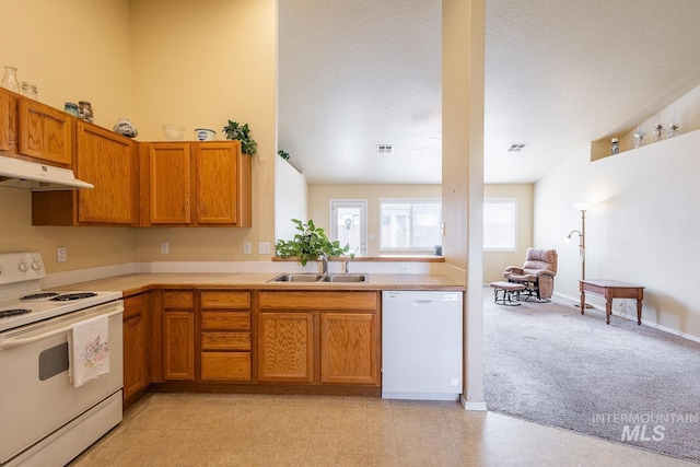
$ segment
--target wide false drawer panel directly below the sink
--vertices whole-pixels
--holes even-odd
[[[268,310],[362,310],[377,308],[376,292],[272,292],[259,294],[259,307]]]

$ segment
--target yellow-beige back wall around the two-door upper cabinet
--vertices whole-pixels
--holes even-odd
[[[140,229],[138,261],[266,260],[243,254],[250,242],[275,241],[276,0],[139,0],[131,5],[133,121],[139,140],[163,140],[161,124],[211,128],[224,139],[228,120],[248,124],[253,155],[250,229]],[[107,56],[108,57],[108,56]],[[246,156],[247,157],[247,156]],[[170,254],[160,253],[161,242]]]

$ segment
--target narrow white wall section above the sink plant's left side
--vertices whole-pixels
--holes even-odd
[[[275,168],[275,240],[291,240],[298,233],[291,219],[308,219],[308,183],[282,157],[277,157]]]

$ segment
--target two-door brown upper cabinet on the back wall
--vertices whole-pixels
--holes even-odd
[[[250,156],[238,141],[140,145],[141,225],[252,225]]]

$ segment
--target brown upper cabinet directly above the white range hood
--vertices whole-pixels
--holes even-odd
[[[0,90],[0,151],[51,165],[72,164],[72,117],[40,102]]]

